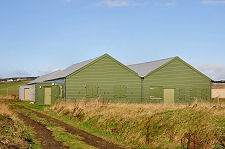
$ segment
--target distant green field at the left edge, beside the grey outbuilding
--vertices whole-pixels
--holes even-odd
[[[12,82],[0,84],[0,96],[19,95],[19,85],[25,85],[27,82]]]

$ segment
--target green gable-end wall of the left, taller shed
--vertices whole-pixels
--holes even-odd
[[[111,102],[141,102],[141,79],[110,56],[103,56],[66,78],[66,98],[82,97],[100,97]]]

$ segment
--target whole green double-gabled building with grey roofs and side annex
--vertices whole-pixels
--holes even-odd
[[[125,66],[104,54],[30,84],[36,84],[37,104],[53,104],[58,98],[189,103],[211,97],[211,80],[178,57]]]

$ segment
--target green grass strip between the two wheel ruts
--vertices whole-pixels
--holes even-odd
[[[35,105],[33,105],[33,106],[29,106],[28,104],[25,104],[25,105],[27,105],[30,108],[36,107]],[[40,108],[36,107],[35,109],[40,109]],[[68,146],[70,149],[86,149],[86,148],[95,149],[95,147],[89,146],[89,145],[85,144],[84,142],[82,142],[81,140],[83,138],[73,135],[73,134],[70,134],[70,133],[67,133],[63,128],[57,126],[52,121],[47,121],[43,118],[40,118],[36,114],[31,113],[29,110],[26,110],[26,109],[15,108],[15,110],[28,115],[31,119],[33,119],[35,121],[45,124],[47,126],[47,128],[53,132],[53,136],[55,137],[55,139],[57,141],[63,142],[63,144],[65,146]]]

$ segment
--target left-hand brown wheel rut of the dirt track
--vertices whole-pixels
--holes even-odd
[[[56,141],[52,136],[52,132],[46,128],[44,124],[32,120],[29,116],[22,113],[17,113],[19,118],[23,120],[25,125],[32,127],[35,131],[35,139],[41,142],[42,148],[52,149],[67,149],[62,142]]]

